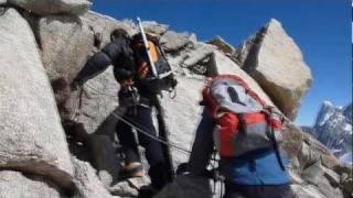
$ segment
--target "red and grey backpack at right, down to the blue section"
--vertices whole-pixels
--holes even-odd
[[[236,75],[214,77],[202,91],[206,111],[217,127],[214,144],[222,157],[274,147],[282,140],[282,117]]]

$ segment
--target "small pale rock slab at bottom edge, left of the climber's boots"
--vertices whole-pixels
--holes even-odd
[[[87,163],[73,157],[75,167],[74,183],[77,186],[76,197],[108,198],[109,191],[101,184],[96,170]]]

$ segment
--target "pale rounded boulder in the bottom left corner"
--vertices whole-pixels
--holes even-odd
[[[43,177],[29,177],[20,172],[0,172],[0,197],[61,198],[55,185]]]

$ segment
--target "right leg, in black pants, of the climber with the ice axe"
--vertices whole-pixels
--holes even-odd
[[[157,138],[157,132],[152,120],[152,110],[146,107],[138,107],[137,118],[140,128],[148,134]],[[164,156],[162,145],[159,141],[150,136],[138,133],[140,145],[146,150],[146,158],[150,165],[149,176],[152,182],[152,187],[161,189],[168,183],[168,173],[164,168]]]

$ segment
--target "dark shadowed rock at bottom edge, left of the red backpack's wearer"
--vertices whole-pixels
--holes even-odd
[[[212,190],[208,179],[204,177],[179,176],[164,187],[154,198],[211,198]]]

